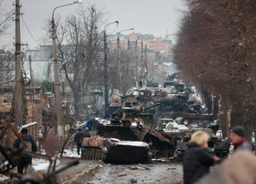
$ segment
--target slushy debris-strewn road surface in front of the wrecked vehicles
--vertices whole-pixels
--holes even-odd
[[[56,170],[78,158],[60,158]],[[62,183],[183,183],[182,164],[153,161],[150,164],[110,164],[78,159],[77,166],[58,174]]]

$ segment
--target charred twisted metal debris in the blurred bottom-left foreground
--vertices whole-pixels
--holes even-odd
[[[59,170],[55,170],[57,158],[46,156],[44,154],[36,154],[33,152],[26,151],[27,145],[22,140],[21,136],[18,134],[18,131],[11,125],[10,122],[6,122],[5,124],[0,125],[0,142],[4,139],[4,137],[12,131],[17,138],[19,138],[24,147],[21,149],[16,149],[9,146],[0,145],[0,174],[4,174],[6,176],[10,176],[10,179],[6,179],[6,181],[0,183],[8,183],[8,184],[22,184],[22,183],[41,183],[41,184],[57,184],[60,183],[56,175],[63,170],[69,169],[71,166],[78,165],[78,161],[70,162],[67,166],[63,166]],[[18,162],[20,162],[23,156],[29,156],[33,158],[43,158],[50,161],[50,165],[48,167],[47,173],[39,173],[35,172],[31,166],[26,168],[26,174],[17,174],[9,172],[14,167],[18,166]]]

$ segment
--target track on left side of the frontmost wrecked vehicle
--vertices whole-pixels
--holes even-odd
[[[100,149],[85,149],[82,150],[81,158],[83,160],[106,160],[106,154]]]

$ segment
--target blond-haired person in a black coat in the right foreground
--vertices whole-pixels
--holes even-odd
[[[218,162],[219,158],[210,154],[208,140],[210,136],[202,131],[192,134],[185,156],[183,158],[184,184],[197,182],[209,173],[210,166]]]

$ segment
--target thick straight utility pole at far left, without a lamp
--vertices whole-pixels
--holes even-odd
[[[21,70],[21,33],[20,33],[20,5],[19,0],[15,4],[15,89],[14,108],[15,126],[22,126],[22,70]]]

